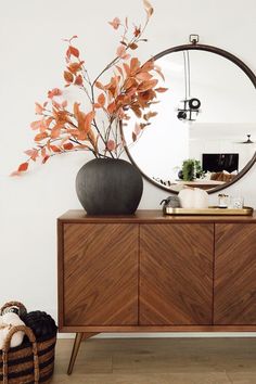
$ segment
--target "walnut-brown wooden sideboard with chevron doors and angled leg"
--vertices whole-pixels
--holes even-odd
[[[59,329],[100,332],[256,331],[256,216],[57,219]]]

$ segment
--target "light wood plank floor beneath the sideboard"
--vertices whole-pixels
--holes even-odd
[[[255,338],[91,338],[67,376],[72,343],[57,342],[52,383],[256,384]]]

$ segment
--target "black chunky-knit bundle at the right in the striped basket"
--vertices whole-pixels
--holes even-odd
[[[23,321],[30,328],[36,336],[36,338],[48,337],[56,333],[55,321],[50,315],[34,310],[24,316]]]

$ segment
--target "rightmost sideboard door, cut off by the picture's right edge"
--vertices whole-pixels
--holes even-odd
[[[215,324],[256,324],[256,226],[217,223]]]

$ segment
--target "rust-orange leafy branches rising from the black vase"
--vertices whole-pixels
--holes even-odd
[[[132,141],[149,126],[156,112],[150,110],[157,92],[166,88],[157,87],[158,78],[164,76],[161,68],[150,60],[141,64],[138,57],[131,56],[142,41],[142,34],[153,14],[153,8],[143,0],[146,20],[143,26],[132,26],[129,37],[128,18],[125,22],[115,17],[110,25],[116,30],[123,28],[121,40],[116,49],[116,56],[92,81],[80,57],[80,51],[75,47],[73,36],[66,39],[66,67],[63,73],[65,87],[74,86],[85,91],[89,108],[79,103],[69,105],[63,99],[63,91],[53,88],[48,92],[44,103],[36,103],[38,119],[30,124],[36,131],[33,149],[25,151],[27,161],[22,163],[12,175],[20,175],[28,169],[29,162],[41,159],[44,164],[51,156],[72,152],[91,151],[95,157],[119,157],[125,143],[120,137],[119,126],[128,120],[132,111],[140,121],[136,123]],[[108,82],[100,80],[101,76],[111,69]],[[103,116],[103,117],[102,117]]]

